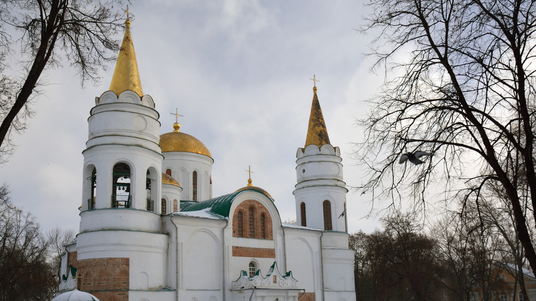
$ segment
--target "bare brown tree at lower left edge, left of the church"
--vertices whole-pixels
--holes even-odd
[[[48,301],[57,287],[48,243],[34,217],[9,200],[0,203],[0,300]]]

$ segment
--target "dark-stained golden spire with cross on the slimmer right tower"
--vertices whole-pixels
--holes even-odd
[[[316,82],[318,81],[314,76],[311,79],[315,82],[315,87],[312,88],[314,95],[312,96],[311,115],[309,117],[309,128],[307,130],[307,138],[304,148],[309,145],[316,145],[320,148],[322,145],[331,144],[330,137],[327,136],[326,124],[324,122],[324,116],[322,115],[322,109],[318,102],[318,96],[316,96]]]

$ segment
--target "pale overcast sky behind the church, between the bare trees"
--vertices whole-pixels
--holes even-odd
[[[305,143],[313,74],[344,180],[364,181],[351,156],[352,143],[363,139],[355,122],[383,78],[363,55],[373,36],[354,30],[366,13],[361,1],[161,0],[132,3],[130,11],[142,87],[160,113],[160,133],[173,130],[170,112],[178,107],[181,132],[212,154],[214,197],[245,186],[251,165],[253,184],[272,195],[281,219],[295,219],[296,150]],[[0,166],[13,202],[44,229],[78,230],[87,118],[113,68],[99,86],[85,89],[69,64],[47,71],[36,115]],[[377,227],[364,218],[369,200],[361,191],[348,193],[349,231]]]

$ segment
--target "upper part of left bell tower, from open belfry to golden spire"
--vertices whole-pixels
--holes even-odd
[[[143,94],[127,19],[110,90],[95,98],[88,119],[82,212],[136,209],[158,213],[155,203],[160,199],[163,160],[158,118],[153,99]],[[82,224],[86,226],[84,219]]]

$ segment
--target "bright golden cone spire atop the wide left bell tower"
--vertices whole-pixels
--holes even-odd
[[[111,78],[110,91],[120,95],[125,90],[135,91],[143,96],[142,82],[139,80],[138,63],[132,36],[130,34],[129,7],[126,6],[125,36],[115,64],[114,76]]]

